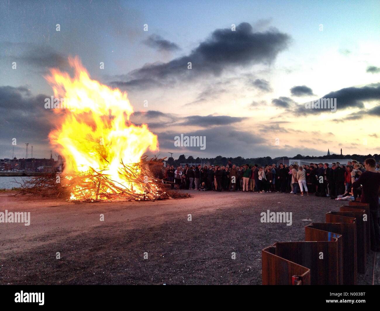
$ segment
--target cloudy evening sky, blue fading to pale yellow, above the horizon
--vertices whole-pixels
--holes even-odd
[[[55,155],[44,76],[69,56],[128,93],[161,156],[378,154],[379,15],[378,1],[0,1],[0,158]],[[306,108],[320,98],[336,109]]]

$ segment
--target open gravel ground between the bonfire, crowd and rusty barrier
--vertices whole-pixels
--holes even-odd
[[[324,222],[325,213],[347,205],[290,194],[190,194],[182,200],[74,204],[2,193],[0,211],[30,212],[31,222],[0,224],[0,284],[261,284],[261,249],[302,241],[305,225]],[[292,212],[292,225],[261,223],[267,209]],[[366,274],[358,274],[359,284],[372,284],[374,254]],[[377,253],[375,284],[379,261]]]

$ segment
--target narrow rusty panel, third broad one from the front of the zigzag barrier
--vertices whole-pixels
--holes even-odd
[[[363,215],[366,214],[364,209],[340,207],[339,212],[331,212],[342,216],[355,217],[356,223],[356,259],[358,260],[358,272],[366,272],[367,262],[367,221],[363,220]]]

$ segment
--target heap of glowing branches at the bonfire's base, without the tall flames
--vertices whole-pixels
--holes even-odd
[[[112,180],[101,171],[92,170],[88,173],[60,173],[36,176],[24,182],[18,182],[19,194],[40,195],[42,197],[60,197],[73,202],[97,201],[143,201],[164,200],[169,198],[188,198],[189,194],[168,189],[170,184],[154,176],[152,171],[162,167],[164,159],[147,159],[144,156],[139,163],[122,164],[121,174],[131,181],[131,189],[124,184]],[[143,192],[137,193],[133,185],[138,185]],[[77,195],[75,195],[77,194]],[[79,195],[78,195],[79,194]]]

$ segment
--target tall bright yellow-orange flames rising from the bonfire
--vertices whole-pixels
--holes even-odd
[[[147,125],[133,125],[133,108],[127,93],[90,79],[78,57],[69,58],[74,78],[58,69],[51,69],[45,78],[54,90],[55,98],[63,98],[68,109],[54,109],[63,113],[62,123],[49,133],[51,144],[65,159],[67,172],[85,173],[93,168],[102,171],[136,193],[143,190],[119,172],[120,162],[138,163],[147,149],[158,149],[157,136]],[[80,196],[80,189],[71,199]]]

